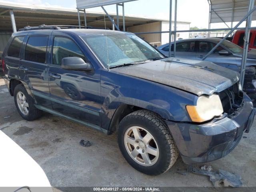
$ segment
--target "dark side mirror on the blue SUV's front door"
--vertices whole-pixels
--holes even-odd
[[[61,61],[61,67],[66,70],[92,71],[90,63],[84,62],[80,57],[65,57]]]

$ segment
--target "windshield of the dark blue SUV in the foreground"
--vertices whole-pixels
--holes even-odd
[[[160,52],[134,34],[87,34],[81,38],[106,68],[164,58]]]

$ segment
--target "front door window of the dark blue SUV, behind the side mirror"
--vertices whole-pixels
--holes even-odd
[[[86,58],[74,41],[64,37],[54,37],[52,49],[52,64],[61,65],[65,57],[80,57],[86,62]]]

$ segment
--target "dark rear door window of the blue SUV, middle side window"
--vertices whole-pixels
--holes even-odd
[[[25,60],[45,63],[48,36],[31,36],[25,50]]]

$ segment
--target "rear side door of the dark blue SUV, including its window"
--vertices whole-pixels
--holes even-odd
[[[20,60],[20,78],[32,91],[39,105],[52,108],[48,86],[46,52],[51,32],[31,31],[26,37],[22,59]]]

